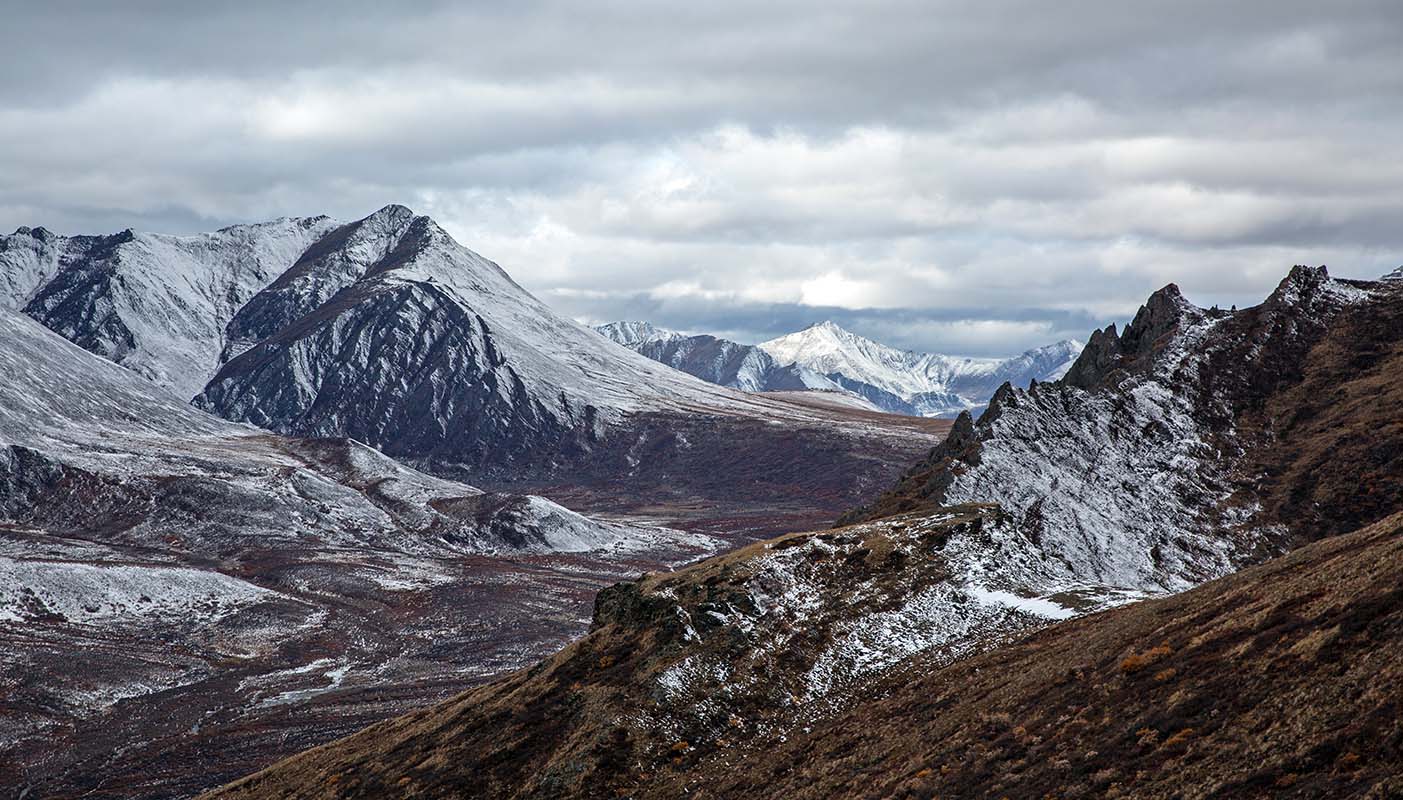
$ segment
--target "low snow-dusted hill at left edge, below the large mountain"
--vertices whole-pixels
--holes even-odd
[[[260,536],[481,553],[589,550],[634,533],[540,498],[492,495],[484,514],[474,487],[356,442],[227,422],[10,312],[0,372],[0,522],[152,543],[178,531],[205,554]],[[178,500],[195,487],[202,505]]]

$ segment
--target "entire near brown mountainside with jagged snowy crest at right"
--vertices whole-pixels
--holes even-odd
[[[845,526],[216,796],[1388,796],[1400,341],[1395,282],[1166,286]]]

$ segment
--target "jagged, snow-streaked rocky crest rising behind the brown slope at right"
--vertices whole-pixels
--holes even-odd
[[[976,422],[961,421],[958,436],[845,521],[978,500],[1106,582],[1173,589],[1225,574],[1320,525],[1320,514],[1281,511],[1305,490],[1296,449],[1323,435],[1302,428],[1323,410],[1301,389],[1313,375],[1330,375],[1337,397],[1376,389],[1403,365],[1392,349],[1400,300],[1396,285],[1334,281],[1323,267],[1294,268],[1264,303],[1237,312],[1194,307],[1166,286],[1124,333],[1093,335],[1066,379],[1000,389]],[[1358,410],[1341,424],[1388,429]],[[1350,469],[1393,465],[1362,459]],[[1296,476],[1285,497],[1282,474]],[[1351,504],[1378,511],[1331,512],[1333,529],[1389,511],[1368,491]]]

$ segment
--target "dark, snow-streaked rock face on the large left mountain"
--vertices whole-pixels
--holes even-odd
[[[431,284],[344,291],[226,364],[196,406],[478,470],[563,462],[589,445],[595,415],[532,394],[487,323]]]

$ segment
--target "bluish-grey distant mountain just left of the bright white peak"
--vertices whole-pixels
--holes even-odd
[[[596,326],[595,330],[634,352],[707,383],[742,392],[842,392],[838,383],[822,375],[793,364],[780,365],[770,354],[751,344],[713,335],[686,335],[650,323],[609,323]]]

